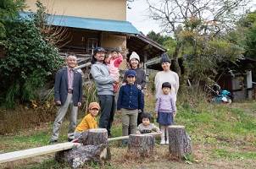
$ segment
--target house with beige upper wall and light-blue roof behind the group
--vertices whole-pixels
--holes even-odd
[[[36,12],[36,0],[26,0]],[[143,63],[167,49],[126,21],[126,0],[41,0],[51,15],[48,24],[64,27],[64,38],[58,41],[60,52],[77,55],[92,54],[92,48],[103,46],[107,51],[120,47],[125,58],[137,52]],[[26,15],[25,13],[23,15]],[[144,67],[146,64],[143,64]],[[125,68],[123,62],[121,68]]]

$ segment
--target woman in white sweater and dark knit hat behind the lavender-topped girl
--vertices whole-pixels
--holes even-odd
[[[170,70],[171,61],[170,57],[168,57],[166,53],[161,55],[160,63],[163,68],[163,71],[156,74],[154,79],[154,85],[156,90],[155,97],[157,99],[159,95],[163,95],[162,84],[164,82],[169,82],[171,85],[170,95],[172,95],[174,97],[174,100],[176,101],[176,95],[178,93],[180,86],[179,76],[178,74]]]

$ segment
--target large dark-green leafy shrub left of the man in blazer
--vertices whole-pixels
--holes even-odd
[[[6,51],[1,59],[1,96],[4,105],[14,107],[19,101],[35,99],[35,91],[61,64],[58,49],[43,41],[32,21],[8,21],[7,38],[3,41]]]

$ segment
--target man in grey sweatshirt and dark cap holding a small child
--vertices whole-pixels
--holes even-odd
[[[101,107],[99,128],[106,128],[111,137],[110,129],[115,112],[113,83],[117,84],[119,79],[109,74],[109,66],[105,63],[106,51],[103,47],[96,47],[93,52],[91,74],[97,85],[97,97]]]

